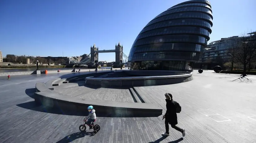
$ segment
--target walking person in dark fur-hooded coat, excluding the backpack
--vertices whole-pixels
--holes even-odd
[[[166,97],[166,113],[163,116],[165,118],[165,128],[166,132],[162,134],[163,136],[170,136],[169,134],[169,124],[172,128],[182,133],[182,136],[185,137],[185,129],[181,129],[178,126],[177,121],[177,113],[176,113],[176,105],[174,100],[172,99],[172,95],[170,93],[165,94]]]

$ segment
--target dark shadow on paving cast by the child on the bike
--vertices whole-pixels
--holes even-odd
[[[81,137],[85,137],[85,136],[93,136],[93,132],[77,132],[77,133],[72,133],[66,137],[64,137],[63,139],[61,139],[60,141],[57,141],[57,143],[68,143],[68,142],[72,142],[76,139],[79,139]]]

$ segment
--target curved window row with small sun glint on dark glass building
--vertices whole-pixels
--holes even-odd
[[[202,43],[206,44],[207,39],[197,35],[163,35],[161,37],[148,37],[146,39],[140,39],[136,41],[134,46],[153,44],[153,43],[165,43],[165,42],[188,42],[188,43]]]

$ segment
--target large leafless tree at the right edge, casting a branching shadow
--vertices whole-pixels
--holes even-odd
[[[243,35],[241,39],[238,40],[236,46],[231,50],[228,50],[228,55],[243,64],[243,74],[241,76],[246,76],[246,66],[252,62],[252,59],[256,58],[256,39],[254,37]]]

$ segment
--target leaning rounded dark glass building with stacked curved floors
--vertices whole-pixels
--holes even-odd
[[[135,39],[128,58],[131,70],[190,71],[212,32],[210,2],[177,4],[152,19]]]

